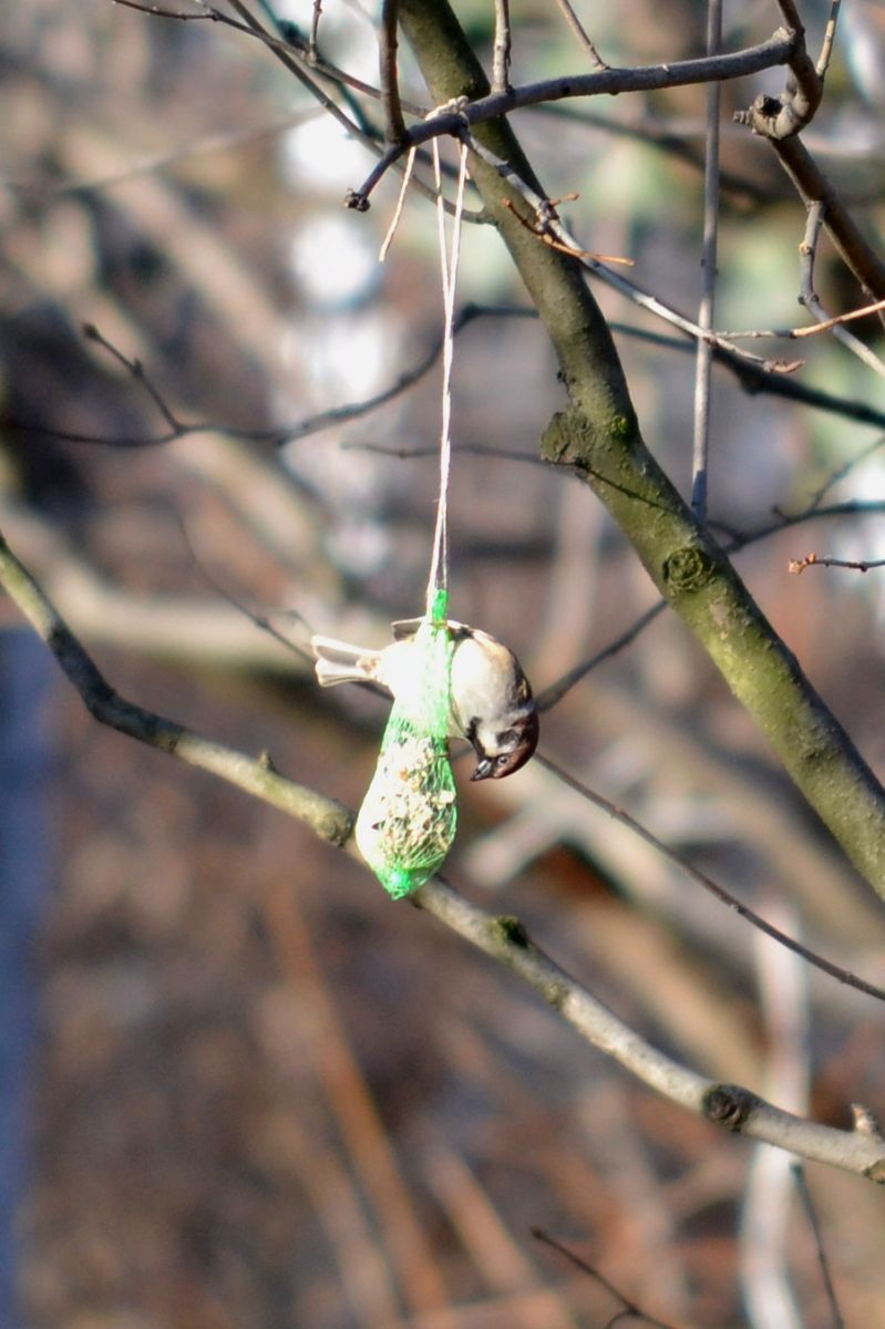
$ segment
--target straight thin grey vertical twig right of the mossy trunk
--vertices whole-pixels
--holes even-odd
[[[707,0],[707,54],[722,45],[722,0]],[[716,247],[719,234],[719,113],[722,85],[707,88],[707,137],[704,153],[704,234],[700,251],[702,291],[698,327],[712,332],[716,308]],[[712,344],[698,339],[695,359],[694,448],[691,460],[691,508],[703,522],[707,517],[707,473],[710,461],[710,395]]]

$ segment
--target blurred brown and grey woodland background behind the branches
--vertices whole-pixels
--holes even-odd
[[[609,64],[703,51],[694,0],[666,16],[650,0],[578,8]],[[823,8],[804,7],[815,40]],[[885,7],[845,9],[805,141],[876,235]],[[457,11],[488,66],[493,5]],[[516,82],[585,68],[555,5],[512,11]],[[308,0],[275,13],[310,33]],[[373,20],[328,0],[319,21],[322,56],[371,84]],[[773,4],[730,3],[726,43],[777,21]],[[780,85],[723,89],[719,327],[808,318],[804,209],[731,125]],[[377,129],[369,98],[335,97]],[[356,807],[385,707],[320,695],[299,650],[311,630],[381,643],[421,609],[442,316],[432,205],[411,193],[379,264],[399,177],[368,214],[344,211],[375,158],[270,51],[110,0],[4,15],[0,112],[0,529],[124,696]],[[581,242],[629,255],[639,286],[688,314],[703,112],[704,90],[682,89],[513,118],[549,194],[579,194],[565,215]],[[825,246],[816,288],[831,312],[862,303]],[[597,294],[646,439],[686,492],[692,358]],[[502,245],[472,223],[468,304],[452,603],[542,692],[655,593],[589,489],[537,462],[563,393]],[[881,351],[881,324],[854,331]],[[811,550],[885,556],[885,391],[832,339],[799,354],[788,381],[828,404],[716,371],[711,521],[731,540],[815,506],[736,561],[881,776],[885,573],[787,567]],[[820,517],[832,504],[872,510]],[[5,599],[0,629],[1,1325],[610,1322],[618,1300],[533,1228],[668,1324],[833,1322],[783,1155],[655,1098],[295,821],[100,730]],[[542,744],[771,921],[885,982],[881,904],[675,619],[571,688]],[[852,1102],[882,1110],[869,998],[797,969],[540,766],[494,788],[464,763],[457,776],[454,884],[518,914],[659,1047],[832,1124],[850,1124]],[[815,1166],[808,1184],[845,1322],[885,1325],[881,1192]]]

